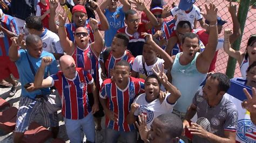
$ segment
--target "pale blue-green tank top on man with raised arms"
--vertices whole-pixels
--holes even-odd
[[[181,92],[181,97],[178,99],[174,109],[186,112],[200,84],[205,80],[206,74],[201,74],[196,67],[197,57],[200,53],[196,53],[194,59],[185,66],[180,65],[179,62],[181,53],[178,53],[174,59],[171,75],[172,84]]]

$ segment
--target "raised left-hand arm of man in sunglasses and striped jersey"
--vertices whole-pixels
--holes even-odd
[[[59,35],[59,42],[60,45],[62,46],[64,52],[67,54],[71,54],[74,51],[73,47],[73,42],[69,40],[66,29],[65,29],[65,22],[66,22],[66,17],[67,13],[65,12],[63,15],[59,14],[59,28],[58,28],[58,35]]]

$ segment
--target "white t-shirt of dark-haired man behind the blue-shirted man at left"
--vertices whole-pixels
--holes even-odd
[[[56,33],[45,28],[40,38],[43,41],[43,50],[49,53],[63,54],[63,48],[60,46],[59,37]]]

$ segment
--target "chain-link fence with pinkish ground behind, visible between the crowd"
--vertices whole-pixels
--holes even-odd
[[[100,4],[103,1],[106,1],[106,0],[98,0],[98,3]],[[244,1],[247,1],[247,0],[244,0]],[[172,6],[173,2],[176,3],[177,5],[179,4],[179,0],[174,0],[174,1],[165,0],[165,2],[167,3],[166,5],[169,5],[170,7]],[[147,5],[147,8],[150,7],[150,3],[151,3],[151,0],[145,0],[145,4]],[[197,0],[195,4],[197,6],[200,6],[202,11],[205,12],[204,5],[205,4],[208,5],[209,3],[215,4],[218,8],[218,16],[221,17],[221,19],[227,21],[227,23],[223,25],[223,31],[221,32],[221,34],[219,34],[219,37],[224,37],[225,28],[233,28],[232,18],[230,13],[228,12],[228,7],[227,7],[230,2],[228,2],[227,0]],[[232,2],[232,4],[237,5],[237,11],[238,11],[239,3]],[[60,8],[59,6],[57,9],[57,13],[60,13],[60,12],[62,12],[62,8]],[[139,15],[140,13],[141,12],[139,12]],[[247,40],[250,37],[250,35],[256,34],[256,14],[255,13],[256,13],[256,9],[252,9],[252,6],[250,6],[248,10],[247,18],[246,18],[244,33],[242,33],[242,41],[240,46],[240,51],[242,52],[245,52]],[[244,13],[244,15],[246,14]],[[98,18],[97,15],[96,15],[96,18]],[[168,18],[172,19],[171,16]],[[201,28],[199,23],[197,25],[198,25],[198,28]],[[217,56],[215,71],[225,73],[226,67],[227,67],[227,60],[228,60],[228,55],[224,52],[223,49],[220,49]],[[238,77],[238,76],[241,76],[241,73],[240,73],[239,65],[237,63],[234,77]]]

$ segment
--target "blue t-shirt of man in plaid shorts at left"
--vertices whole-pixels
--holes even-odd
[[[43,95],[46,95],[46,94],[50,94],[50,89],[49,88],[41,88],[41,90],[36,90],[36,91],[32,91],[32,92],[28,92],[26,91],[26,89],[24,88],[24,85],[26,83],[33,83],[34,80],[35,80],[35,77],[32,73],[32,70],[29,66],[29,61],[28,61],[28,58],[29,60],[31,61],[31,64],[33,66],[33,68],[35,69],[35,72],[37,72],[37,69],[40,67],[41,65],[41,60],[44,56],[51,56],[52,58],[52,63],[51,65],[45,67],[45,71],[44,71],[44,78],[46,78],[48,76],[48,73],[50,75],[52,74],[56,74],[58,72],[58,68],[57,68],[57,62],[53,56],[53,54],[49,53],[49,52],[46,52],[46,51],[43,51],[40,58],[33,58],[32,56],[29,55],[28,53],[28,56],[26,55],[26,50],[24,49],[20,49],[18,51],[20,57],[19,59],[15,62],[16,63],[16,66],[18,68],[18,72],[19,72],[19,81],[21,82],[22,84],[22,96],[23,97],[29,97],[29,98],[35,98],[36,95],[40,95],[40,94],[43,94]],[[28,58],[27,58],[28,57]]]

